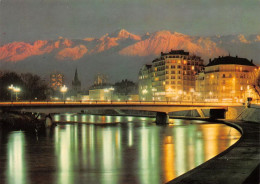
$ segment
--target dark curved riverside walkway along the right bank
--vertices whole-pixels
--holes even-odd
[[[241,138],[231,147],[168,184],[259,183],[260,123],[224,122],[239,130]]]

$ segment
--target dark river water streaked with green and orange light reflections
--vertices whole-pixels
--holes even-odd
[[[0,183],[165,183],[240,137],[228,126],[198,121],[157,126],[153,118],[131,116],[65,114],[53,119],[69,124],[58,124],[39,139],[24,132],[0,139],[0,170],[5,171]]]

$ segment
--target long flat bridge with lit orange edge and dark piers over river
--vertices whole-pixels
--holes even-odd
[[[87,102],[0,102],[1,111],[21,111],[32,113],[82,112],[87,109],[142,110],[156,112],[157,123],[167,123],[168,113],[196,110],[200,117],[205,117],[202,109],[210,110],[211,118],[225,118],[225,112],[241,103],[212,102],[175,102],[175,101],[87,101]]]

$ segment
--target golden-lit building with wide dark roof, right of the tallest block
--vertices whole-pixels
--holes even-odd
[[[259,98],[259,69],[245,58],[218,57],[196,75],[198,99],[212,102],[244,102]]]

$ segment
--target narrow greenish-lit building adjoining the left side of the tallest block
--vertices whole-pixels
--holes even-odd
[[[152,65],[144,65],[139,71],[138,91],[139,99],[151,101],[152,99]]]

